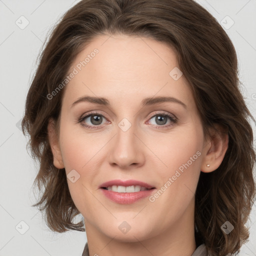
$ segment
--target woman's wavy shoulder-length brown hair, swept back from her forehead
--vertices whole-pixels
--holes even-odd
[[[81,0],[54,28],[29,88],[23,133],[39,172],[34,180],[40,200],[33,206],[45,211],[50,229],[84,231],[64,171],[53,165],[47,138],[49,118],[59,119],[61,89],[51,93],[67,75],[74,57],[96,35],[147,36],[165,42],[177,52],[180,70],[189,82],[199,110],[204,134],[214,123],[228,133],[228,149],[213,172],[200,173],[195,193],[197,246],[204,242],[210,255],[239,251],[248,239],[246,223],[255,197],[252,169],[255,162],[252,118],[239,91],[235,49],[216,19],[193,0]],[[254,120],[255,121],[255,120]],[[226,234],[220,226],[229,221]]]

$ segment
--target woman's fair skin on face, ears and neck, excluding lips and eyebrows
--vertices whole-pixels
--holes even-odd
[[[90,256],[190,256],[196,248],[194,193],[199,174],[220,165],[228,138],[204,137],[187,80],[169,75],[177,66],[170,46],[145,37],[100,35],[76,56],[70,70],[94,48],[99,52],[65,87],[59,131],[52,121],[48,125],[54,165],[80,175],[74,183],[67,182],[84,217]],[[72,106],[85,95],[104,97],[110,105],[83,101]],[[175,97],[186,108],[176,102],[140,105],[156,96]],[[83,120],[94,125],[88,129],[77,120],[92,110],[103,117],[98,125],[90,117]],[[164,113],[178,121],[166,117],[159,124],[154,115]],[[123,118],[131,124],[126,131],[118,126]],[[98,188],[112,179],[136,179],[158,190],[197,151],[200,156],[153,202],[147,197],[118,204]],[[131,227],[127,233],[118,228],[123,221]]]

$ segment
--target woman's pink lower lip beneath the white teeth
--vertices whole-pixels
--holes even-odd
[[[149,196],[155,190],[155,188],[153,188],[153,189],[139,191],[139,192],[119,193],[119,192],[114,192],[112,190],[106,190],[104,188],[100,188],[100,189],[102,190],[103,194],[107,198],[120,204],[131,204],[139,199]]]

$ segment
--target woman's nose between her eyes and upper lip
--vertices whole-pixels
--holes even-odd
[[[126,131],[116,127],[116,135],[111,139],[109,148],[109,163],[120,168],[130,168],[144,164],[145,145],[139,138],[135,125],[131,125]]]

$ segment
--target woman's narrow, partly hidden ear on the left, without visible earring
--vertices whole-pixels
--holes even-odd
[[[53,165],[58,169],[62,169],[64,168],[64,164],[61,156],[55,123],[52,118],[49,119],[47,130],[48,130],[49,144],[50,144],[51,152],[53,155]]]

